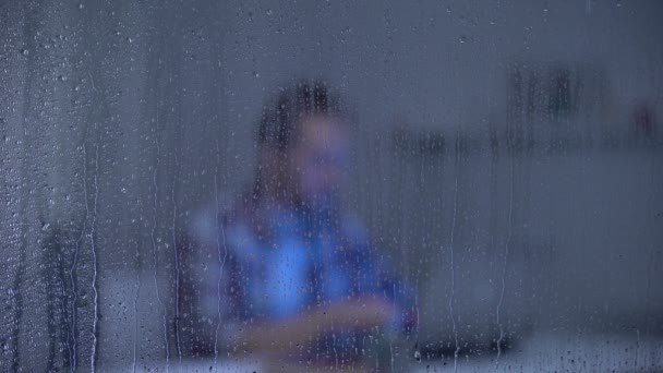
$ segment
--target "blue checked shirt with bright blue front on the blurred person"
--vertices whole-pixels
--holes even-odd
[[[207,217],[194,228],[207,248],[202,252],[207,269],[201,310],[210,320],[220,311],[224,339],[230,344],[241,324],[285,320],[312,305],[373,296],[400,310],[387,327],[409,332],[414,326],[412,289],[376,253],[355,217],[258,206],[251,217]],[[323,337],[320,349],[357,350],[360,334]]]

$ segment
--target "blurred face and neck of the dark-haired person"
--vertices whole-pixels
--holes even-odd
[[[316,209],[336,207],[349,166],[349,139],[345,127],[332,118],[309,119],[302,125],[302,137],[293,156],[301,198]]]

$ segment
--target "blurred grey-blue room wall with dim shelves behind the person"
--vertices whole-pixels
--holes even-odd
[[[422,341],[448,342],[451,317],[462,340],[661,333],[662,15],[658,1],[2,3],[2,364],[177,356],[177,236],[250,181],[264,98],[299,76],[357,106],[347,201],[419,288]]]

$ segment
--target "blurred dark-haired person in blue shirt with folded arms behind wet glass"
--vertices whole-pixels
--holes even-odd
[[[212,350],[352,364],[370,334],[413,326],[412,292],[341,206],[346,109],[323,82],[280,89],[261,119],[253,188],[229,212],[196,220],[192,277]]]

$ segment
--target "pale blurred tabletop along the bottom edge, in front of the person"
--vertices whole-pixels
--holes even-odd
[[[410,359],[410,358],[408,358]],[[402,366],[402,364],[401,364]],[[625,335],[533,335],[519,348],[495,357],[459,357],[436,361],[414,361],[407,364],[409,372],[663,372],[663,339],[646,338],[634,332]],[[133,371],[133,364],[110,371]],[[136,366],[136,372],[297,372],[315,371],[286,365],[268,360],[228,361],[210,359],[185,360],[180,364],[171,360],[166,366],[158,362],[150,366]],[[325,372],[336,371],[326,368]],[[373,366],[342,371],[374,371]],[[390,366],[378,371],[390,372]]]

